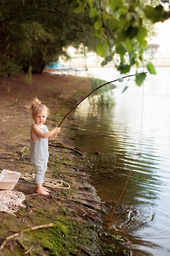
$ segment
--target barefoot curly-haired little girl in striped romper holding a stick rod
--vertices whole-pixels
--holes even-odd
[[[49,140],[55,139],[60,132],[60,128],[55,127],[49,131],[46,125],[46,117],[49,114],[48,108],[41,104],[38,98],[34,98],[30,109],[32,110],[32,117],[35,124],[31,126],[31,140],[30,140],[30,163],[35,168],[35,192],[42,195],[49,195],[49,190],[42,186],[44,175],[47,170],[47,163],[49,160]]]

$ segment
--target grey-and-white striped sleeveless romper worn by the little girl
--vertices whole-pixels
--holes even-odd
[[[37,124],[33,124],[38,126]],[[42,132],[48,132],[46,125],[43,124]],[[35,141],[30,140],[30,163],[35,168],[35,184],[42,184],[49,161],[49,138],[38,137]]]

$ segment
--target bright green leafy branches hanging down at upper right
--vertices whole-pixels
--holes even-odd
[[[94,21],[97,54],[104,58],[102,66],[115,62],[121,74],[128,73],[132,66],[143,63],[150,26],[170,17],[168,0],[70,0],[75,11],[83,12],[86,5],[91,9]],[[165,9],[163,5],[169,4]],[[146,65],[155,74],[152,63]],[[136,74],[136,83],[141,85],[145,74]]]

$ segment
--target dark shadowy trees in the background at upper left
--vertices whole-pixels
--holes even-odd
[[[88,11],[75,13],[67,0],[0,0],[0,74],[42,73],[72,43],[95,49]],[[94,35],[94,36],[93,36]],[[94,38],[94,40],[92,40]]]

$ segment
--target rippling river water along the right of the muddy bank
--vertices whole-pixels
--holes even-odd
[[[107,209],[103,229],[126,238],[128,243],[116,249],[133,256],[170,255],[170,67],[156,71],[141,87],[133,78],[116,82],[110,108],[91,106],[86,99],[75,110],[81,130],[75,147],[98,152],[91,173]],[[106,81],[120,77],[111,68],[91,72]],[[107,243],[101,255],[115,255],[113,241]]]

